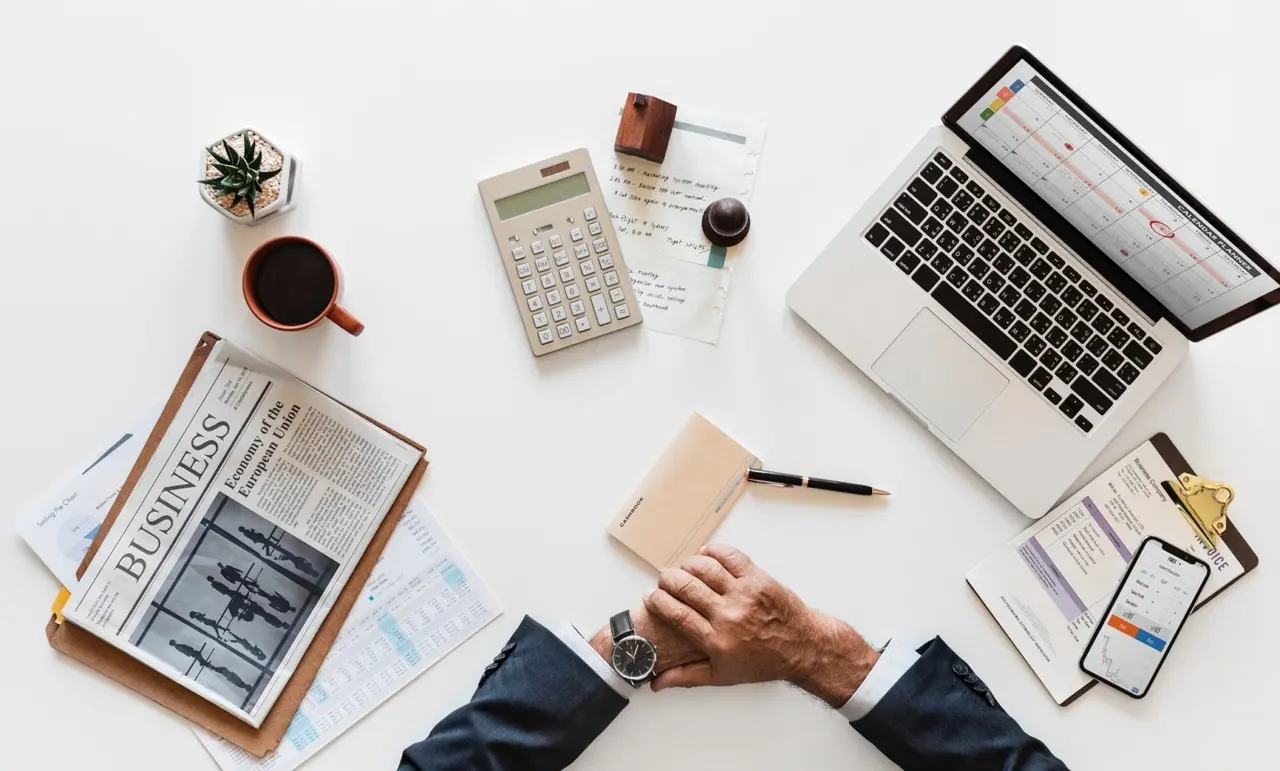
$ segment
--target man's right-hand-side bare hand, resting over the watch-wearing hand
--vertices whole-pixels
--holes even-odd
[[[654,690],[787,680],[840,707],[879,658],[851,626],[810,608],[730,546],[704,546],[663,570],[644,605],[708,660],[671,666]]]

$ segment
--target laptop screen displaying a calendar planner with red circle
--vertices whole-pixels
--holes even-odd
[[[1025,59],[956,123],[1188,329],[1280,288]]]

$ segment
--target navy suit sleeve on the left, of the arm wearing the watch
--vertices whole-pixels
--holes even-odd
[[[627,706],[529,616],[494,665],[470,703],[404,751],[399,771],[558,771]]]

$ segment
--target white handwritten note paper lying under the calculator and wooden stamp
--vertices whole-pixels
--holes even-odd
[[[714,343],[748,245],[713,246],[703,211],[717,199],[750,201],[764,124],[681,106],[662,164],[614,152],[616,128],[612,115],[609,147],[595,158],[645,327]]]

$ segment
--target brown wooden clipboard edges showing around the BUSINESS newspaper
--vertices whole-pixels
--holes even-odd
[[[151,435],[147,437],[146,444],[143,444],[137,462],[133,464],[133,470],[129,471],[128,479],[125,479],[124,485],[120,488],[120,493],[111,505],[111,511],[102,521],[102,526],[99,529],[97,537],[90,546],[88,553],[84,555],[84,560],[81,562],[81,566],[76,572],[77,578],[83,576],[84,570],[93,561],[93,555],[97,553],[106,533],[115,523],[116,515],[119,515],[125,501],[132,494],[133,487],[137,484],[138,478],[142,476],[142,471],[151,461],[151,456],[155,453],[156,447],[164,438],[165,430],[177,416],[178,409],[187,397],[187,392],[189,391],[192,382],[195,382],[196,375],[200,374],[200,369],[205,365],[205,360],[209,359],[209,353],[212,351],[214,343],[219,339],[220,338],[212,332],[206,332],[201,336],[200,342],[196,345],[196,350],[191,353],[191,359],[187,360],[186,369],[182,370],[178,385],[174,387],[173,393],[169,396],[169,401],[164,406],[164,411],[160,414],[160,420],[156,421],[155,428],[151,430]],[[421,450],[424,453],[426,452],[425,447],[413,442],[408,437],[392,430],[364,414],[360,415],[407,444]],[[374,533],[372,539],[369,542],[369,548],[365,549],[364,556],[356,564],[351,578],[347,580],[347,585],[343,587],[342,593],[334,602],[333,610],[329,611],[328,616],[325,616],[324,622],[316,631],[316,635],[307,647],[306,653],[303,653],[302,658],[298,661],[297,670],[294,670],[293,676],[289,678],[289,681],[284,685],[284,689],[276,698],[271,711],[268,712],[266,717],[262,720],[262,725],[260,727],[255,729],[247,722],[238,720],[232,713],[221,710],[211,702],[205,701],[178,683],[165,678],[160,672],[156,672],[137,658],[133,658],[123,651],[111,647],[105,640],[90,634],[88,631],[70,624],[59,622],[56,615],[49,620],[49,624],[45,628],[49,644],[52,645],[55,651],[65,653],[84,666],[106,675],[111,680],[115,680],[120,685],[136,690],[148,699],[173,710],[178,715],[182,715],[196,725],[218,734],[232,744],[242,747],[257,757],[262,757],[268,752],[279,747],[280,742],[284,739],[284,733],[289,727],[289,722],[293,720],[293,713],[297,712],[307,689],[311,688],[311,681],[320,670],[320,665],[329,653],[329,648],[333,647],[334,640],[338,638],[338,633],[342,630],[342,625],[346,622],[347,615],[356,603],[361,588],[365,585],[365,581],[369,580],[369,576],[374,570],[374,565],[378,562],[383,548],[387,546],[392,533],[396,530],[396,525],[399,523],[401,515],[404,514],[404,507],[408,506],[408,501],[413,496],[413,491],[417,489],[419,482],[421,482],[422,474],[426,471],[426,465],[428,461],[424,455],[424,457],[417,461],[417,465],[413,466],[413,470],[410,471],[408,479],[404,482],[404,488],[401,491],[399,496],[392,503],[390,510],[387,512],[387,519],[383,520],[383,524]]]

